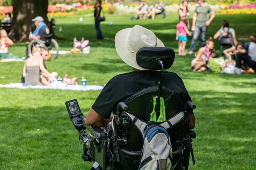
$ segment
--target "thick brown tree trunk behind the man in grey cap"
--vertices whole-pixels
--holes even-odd
[[[42,16],[49,26],[47,18],[48,0],[12,0],[13,21],[11,23],[10,38],[14,42],[28,41],[29,32],[35,30],[32,19]]]

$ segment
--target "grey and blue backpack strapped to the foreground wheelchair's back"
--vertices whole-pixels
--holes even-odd
[[[123,112],[143,134],[144,143],[139,170],[170,170],[172,146],[167,130],[184,118],[184,112],[181,111],[164,122],[146,122],[126,111]],[[114,119],[112,120],[114,129],[113,125]]]

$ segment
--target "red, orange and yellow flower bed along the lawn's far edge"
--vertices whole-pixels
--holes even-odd
[[[156,4],[157,5],[157,4]],[[150,5],[149,8],[152,9],[156,5]],[[189,11],[195,11],[195,8],[198,6],[197,3],[189,3]],[[224,4],[216,3],[216,5],[209,5],[213,11],[216,11],[220,14],[256,14],[256,4],[244,5],[244,6],[235,6],[233,4]],[[136,14],[139,11],[139,3],[130,3],[130,4],[110,4],[103,3],[102,7],[105,8],[105,12],[109,14]],[[166,5],[166,13],[177,13],[178,9],[181,7],[181,4],[173,3],[171,5]],[[13,7],[0,7],[0,19],[5,17],[5,13],[12,12]],[[59,16],[70,16],[74,14],[82,15],[93,12],[93,5],[74,3],[72,5],[67,4],[55,4],[48,5],[48,14],[49,17],[59,17]]]

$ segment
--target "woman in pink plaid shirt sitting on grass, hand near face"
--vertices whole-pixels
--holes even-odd
[[[201,47],[197,54],[196,58],[192,60],[191,66],[194,72],[201,72],[208,70],[207,63],[210,58],[215,58],[214,42],[212,38],[209,38],[206,41],[206,46]]]

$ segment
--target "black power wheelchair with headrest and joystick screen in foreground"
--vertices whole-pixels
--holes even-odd
[[[160,117],[161,98],[164,99],[166,113],[166,120],[161,125],[167,129],[172,145],[171,170],[188,170],[190,154],[195,164],[191,142],[196,134],[188,127],[188,111],[196,106],[191,101],[183,105],[181,98],[172,89],[166,88],[163,82],[164,70],[172,66],[174,56],[173,49],[164,47],[145,47],[136,53],[139,66],[161,70],[162,76],[157,86],[143,89],[118,103],[112,122],[105,128],[87,126],[77,100],[66,101],[70,119],[79,132],[79,140],[83,142],[82,159],[93,161],[92,169],[139,169],[144,126],[138,126],[138,122],[146,125],[152,121],[152,110],[156,111],[156,118]],[[155,106],[152,103],[154,97]]]

